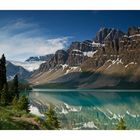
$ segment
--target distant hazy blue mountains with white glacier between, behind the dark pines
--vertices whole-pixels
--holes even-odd
[[[7,61],[7,79],[12,80],[15,74],[19,75],[20,80],[27,80],[37,70],[42,63],[51,59],[54,55],[30,57],[25,62]]]

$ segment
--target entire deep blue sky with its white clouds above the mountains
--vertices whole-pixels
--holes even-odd
[[[101,27],[130,26],[140,26],[140,11],[0,11],[0,54],[24,61],[93,39]]]

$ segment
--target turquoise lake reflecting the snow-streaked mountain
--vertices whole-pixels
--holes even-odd
[[[128,129],[140,129],[139,90],[33,89],[31,113],[43,117],[54,105],[62,129],[114,129],[123,117]]]

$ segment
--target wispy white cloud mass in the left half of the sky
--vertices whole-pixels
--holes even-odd
[[[55,53],[64,49],[69,37],[46,39],[35,24],[17,21],[0,28],[0,55],[5,53],[8,59],[25,60],[30,56]]]

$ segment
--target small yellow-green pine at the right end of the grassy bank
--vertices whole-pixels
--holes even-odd
[[[49,126],[50,129],[60,128],[60,122],[58,121],[58,118],[52,106],[49,107],[48,112],[45,113],[45,116],[46,124]]]

